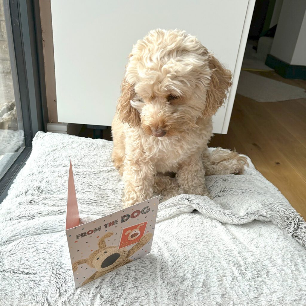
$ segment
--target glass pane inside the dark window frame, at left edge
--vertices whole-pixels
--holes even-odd
[[[16,64],[11,25],[5,9],[0,0],[0,177],[25,147],[18,82],[12,77]]]

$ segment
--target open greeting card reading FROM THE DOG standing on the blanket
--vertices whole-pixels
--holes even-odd
[[[76,288],[151,251],[159,196],[80,225],[72,165],[66,235]]]

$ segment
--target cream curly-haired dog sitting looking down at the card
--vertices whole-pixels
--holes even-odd
[[[123,176],[124,207],[180,193],[208,195],[205,174],[241,173],[246,159],[209,154],[211,117],[224,102],[231,73],[195,36],[152,30],[129,55],[112,123],[112,159]],[[175,178],[165,174],[176,173]]]

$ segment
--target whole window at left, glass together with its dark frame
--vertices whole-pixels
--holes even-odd
[[[39,1],[0,0],[0,203],[45,130]]]

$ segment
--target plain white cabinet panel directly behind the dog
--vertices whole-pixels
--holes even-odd
[[[226,133],[255,0],[51,0],[58,120],[111,125],[127,56],[151,29],[184,29],[232,72]]]

